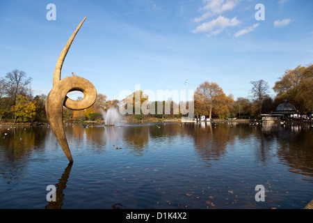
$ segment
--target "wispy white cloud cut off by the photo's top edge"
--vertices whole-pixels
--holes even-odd
[[[206,5],[200,10],[205,10],[206,13],[194,19],[195,22],[202,22],[209,17],[219,15],[227,10],[232,10],[241,0],[203,0]]]

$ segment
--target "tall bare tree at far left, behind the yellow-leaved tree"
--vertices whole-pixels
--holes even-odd
[[[6,74],[5,90],[8,98],[15,105],[18,95],[28,95],[30,91],[31,77],[26,77],[26,72],[22,70],[12,70]]]

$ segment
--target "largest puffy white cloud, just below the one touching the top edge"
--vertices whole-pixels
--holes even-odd
[[[204,22],[197,28],[193,30],[193,33],[207,33],[209,36],[216,36],[218,33],[223,31],[227,26],[236,26],[240,23],[236,17],[230,20],[227,17],[220,15],[216,20],[211,20],[210,22]]]

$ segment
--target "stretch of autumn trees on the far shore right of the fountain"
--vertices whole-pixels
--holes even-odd
[[[251,81],[251,89],[246,98],[237,98],[234,100],[232,94],[226,95],[223,89],[215,82],[202,82],[199,84],[193,95],[194,115],[206,116],[207,118],[261,118],[261,114],[275,112],[276,107],[287,99],[292,105],[298,109],[298,112],[310,112],[313,107],[313,65],[298,66],[294,70],[286,70],[284,75],[278,78],[275,82],[273,91],[276,93],[274,97],[269,95],[268,82],[263,79]],[[132,100],[135,104],[135,95],[141,95],[141,104],[148,100],[147,95],[143,92],[132,93],[127,97],[128,101]],[[126,100],[127,101],[127,100]],[[144,115],[132,113],[136,119],[142,118],[181,118],[184,116],[180,109],[184,106],[183,103],[172,100],[155,103],[153,106],[156,111],[158,105],[163,107],[163,114]],[[150,105],[152,105],[150,103]],[[161,104],[159,104],[161,103]],[[165,105],[170,105],[170,114],[164,111]],[[175,108],[179,109],[178,113],[173,112]],[[134,109],[134,108],[133,108]],[[127,114],[126,116],[131,116]]]

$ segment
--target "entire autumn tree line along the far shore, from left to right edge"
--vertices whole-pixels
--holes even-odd
[[[273,86],[276,95],[268,95],[268,82],[263,79],[251,81],[251,89],[246,98],[234,100],[232,94],[225,95],[223,89],[215,82],[205,81],[199,84],[193,95],[194,115],[204,115],[207,118],[258,118],[261,114],[274,112],[276,107],[287,99],[299,112],[310,112],[313,105],[313,65],[297,66],[294,70],[285,70]],[[15,122],[47,122],[45,101],[47,95],[33,96],[31,77],[22,70],[13,70],[0,77],[0,121],[3,118]],[[136,97],[140,96],[141,105],[149,100],[143,91],[128,95],[125,100],[108,100],[106,95],[97,94],[95,104],[83,111],[73,111],[63,107],[65,121],[101,121],[102,112],[109,107],[119,107],[123,102],[135,105]],[[77,98],[79,100],[81,98]],[[188,109],[191,102],[174,102],[171,99],[150,102],[154,112],[145,114],[133,111],[125,114],[129,121],[149,118],[181,118],[182,106]],[[167,109],[167,111],[166,111]],[[169,110],[170,109],[170,110]],[[160,112],[161,111],[161,112]]]

